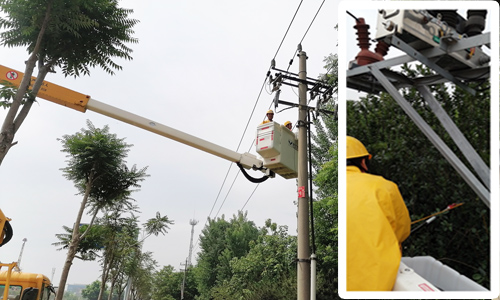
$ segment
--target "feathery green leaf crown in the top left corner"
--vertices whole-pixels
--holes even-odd
[[[93,67],[113,74],[121,66],[112,58],[130,60],[132,49],[126,44],[138,41],[132,37],[138,20],[130,19],[133,11],[119,7],[117,0],[2,0],[0,8],[7,14],[0,19],[5,28],[0,45],[27,47],[42,64],[60,67],[65,75],[89,74]]]

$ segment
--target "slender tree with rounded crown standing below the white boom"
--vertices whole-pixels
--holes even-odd
[[[86,209],[92,214],[88,228],[92,227],[97,213],[105,207],[130,205],[131,188],[140,187],[146,168],[128,168],[124,159],[131,145],[109,133],[109,127],[98,129],[87,121],[88,129],[60,139],[62,152],[69,158],[63,168],[64,176],[73,181],[83,199],[78,211],[67,257],[61,274],[56,300],[61,300],[71,264],[78,245],[88,231],[80,233],[79,224]]]

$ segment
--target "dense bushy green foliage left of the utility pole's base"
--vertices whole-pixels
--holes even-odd
[[[292,299],[296,297],[297,238],[271,220],[257,228],[238,212],[209,220],[198,264],[188,268],[184,299]],[[167,266],[154,275],[153,299],[177,299],[183,272]]]

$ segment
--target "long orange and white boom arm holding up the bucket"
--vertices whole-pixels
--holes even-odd
[[[22,72],[4,67],[0,65],[0,84],[19,87],[24,74]],[[31,82],[35,81],[32,77]],[[176,130],[174,128],[165,126],[158,122],[146,119],[128,111],[119,109],[117,107],[99,102],[92,99],[90,96],[72,91],[65,87],[44,81],[42,88],[38,92],[37,97],[49,100],[51,102],[81,111],[91,110],[96,113],[108,116],[110,118],[120,120],[130,125],[142,128],[144,130],[159,134],[166,138],[175,140],[182,144],[194,147],[201,151],[213,154],[225,160],[240,164],[246,169],[259,169],[266,173],[267,176],[272,177],[274,173],[263,167],[263,162],[255,155],[250,153],[238,153],[227,148],[221,147],[209,141],[200,139],[198,137],[189,135],[185,132]]]

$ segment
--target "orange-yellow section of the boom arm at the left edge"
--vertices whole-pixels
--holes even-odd
[[[22,72],[0,65],[0,84],[8,83],[12,86],[19,87],[23,76],[24,73]],[[30,88],[35,80],[36,77],[32,76]],[[81,112],[85,112],[87,102],[90,99],[90,96],[75,92],[48,81],[44,81],[42,83],[37,97],[76,109]]]

